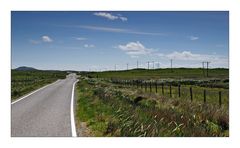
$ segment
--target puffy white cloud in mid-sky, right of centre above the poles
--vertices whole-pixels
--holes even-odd
[[[136,58],[139,55],[151,54],[153,49],[146,48],[139,41],[129,42],[126,45],[118,45],[118,48],[130,55],[132,58]]]

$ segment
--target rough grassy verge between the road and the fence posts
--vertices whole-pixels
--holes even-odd
[[[87,77],[80,78],[77,94],[77,123],[86,123],[92,136],[229,135],[228,106]]]

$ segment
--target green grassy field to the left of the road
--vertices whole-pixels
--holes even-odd
[[[11,99],[17,99],[35,89],[64,79],[66,72],[60,71],[11,71]]]

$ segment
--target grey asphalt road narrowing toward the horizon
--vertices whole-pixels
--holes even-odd
[[[33,93],[11,105],[12,137],[72,136],[71,97],[76,75]]]

